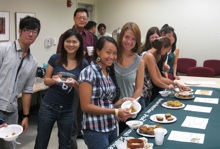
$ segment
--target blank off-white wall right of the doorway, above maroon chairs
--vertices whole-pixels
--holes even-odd
[[[201,66],[205,59],[220,59],[219,8],[219,0],[97,0],[97,22],[112,32],[133,21],[143,40],[150,27],[168,23],[177,33],[180,57],[195,58]]]

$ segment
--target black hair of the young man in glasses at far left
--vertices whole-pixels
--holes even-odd
[[[19,23],[19,29],[38,29],[38,34],[40,33],[40,21],[35,18],[35,17],[31,17],[31,16],[26,16],[24,18],[21,19],[20,23]]]

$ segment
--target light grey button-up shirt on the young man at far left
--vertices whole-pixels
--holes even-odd
[[[33,93],[36,70],[37,61],[30,49],[28,55],[22,60],[22,49],[18,40],[0,43],[1,111],[17,111],[18,95]]]

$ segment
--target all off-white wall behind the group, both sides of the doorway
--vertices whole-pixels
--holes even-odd
[[[35,12],[42,29],[31,50],[42,66],[56,52],[56,46],[45,49],[47,37],[58,40],[61,33],[73,25],[77,3],[94,4],[94,20],[104,22],[112,32],[126,22],[136,22],[145,39],[152,26],[173,26],[178,36],[180,57],[220,59],[220,1],[219,0],[0,0],[0,11],[10,12],[10,40],[15,40],[15,12]]]

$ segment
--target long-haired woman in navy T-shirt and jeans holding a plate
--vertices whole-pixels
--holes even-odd
[[[67,30],[61,53],[52,55],[48,61],[44,83],[49,89],[38,114],[35,149],[47,149],[55,122],[58,126],[59,149],[71,148],[74,90],[78,90],[78,76],[87,65],[88,62],[83,59],[82,36],[77,30]]]

